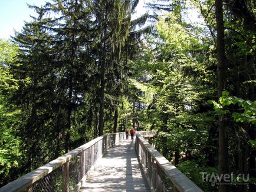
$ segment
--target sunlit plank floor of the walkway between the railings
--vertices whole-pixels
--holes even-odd
[[[110,148],[97,162],[80,192],[150,191],[142,176],[134,140],[124,140]]]

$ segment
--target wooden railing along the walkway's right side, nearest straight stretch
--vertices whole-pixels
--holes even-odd
[[[172,165],[162,154],[143,138],[144,134],[136,134],[135,150],[142,164],[143,171],[154,191],[202,191],[189,180],[178,168]]]

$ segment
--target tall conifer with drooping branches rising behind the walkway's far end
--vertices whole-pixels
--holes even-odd
[[[99,135],[103,134],[104,108],[106,85],[113,85],[122,79],[121,55],[130,32],[130,18],[137,1],[94,1],[94,10],[97,31],[99,34],[99,67],[100,67],[100,89],[99,89]],[[119,87],[119,85],[117,85]],[[119,88],[114,90],[116,97]],[[115,98],[117,100],[117,98]],[[117,106],[117,102],[115,104]],[[116,108],[117,110],[117,108]],[[115,112],[115,125],[117,126],[117,111]]]

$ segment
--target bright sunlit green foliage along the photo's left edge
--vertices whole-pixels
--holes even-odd
[[[21,163],[21,140],[15,137],[21,111],[9,103],[10,95],[21,83],[10,70],[17,64],[17,54],[17,45],[0,39],[0,185],[15,176],[14,170]]]

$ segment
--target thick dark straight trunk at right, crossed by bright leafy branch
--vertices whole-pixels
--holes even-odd
[[[225,65],[225,42],[224,42],[224,20],[222,0],[215,0],[216,25],[217,25],[217,76],[218,96],[222,96],[227,82],[227,69]],[[227,174],[228,171],[228,137],[227,137],[227,115],[221,114],[218,118],[219,131],[219,176]],[[219,192],[228,191],[228,185],[221,177]]]

